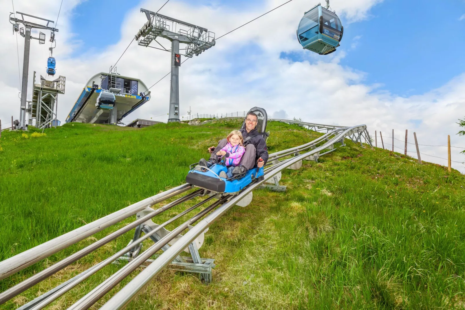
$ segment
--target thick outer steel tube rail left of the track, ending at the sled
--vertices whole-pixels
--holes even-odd
[[[133,203],[126,208],[113,212],[112,214],[81,226],[80,228],[74,229],[64,235],[53,238],[52,240],[35,246],[32,249],[28,249],[18,255],[7,258],[0,262],[0,280],[3,280],[7,276],[11,276],[16,272],[29,267],[33,263],[37,263],[38,261],[67,248],[88,236],[92,236],[93,234],[106,229],[107,227],[120,222],[139,211],[142,211],[147,205],[152,206],[175,195],[184,193],[188,189],[191,189],[191,185],[187,183],[179,185],[173,189],[168,189],[163,193],[159,193],[141,200],[140,202]]]

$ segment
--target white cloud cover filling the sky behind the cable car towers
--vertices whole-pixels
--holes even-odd
[[[22,12],[35,12],[52,20],[57,13],[34,11],[35,8],[31,7],[32,4],[27,4],[27,1],[17,2],[16,9]],[[107,71],[145,23],[145,15],[139,12],[139,8],[156,11],[164,2],[145,1],[135,7],[126,14],[121,25],[120,42],[107,47],[101,53],[89,52],[79,57],[70,56],[76,42],[69,31],[69,16],[77,2],[62,8],[60,32],[57,34],[58,47],[54,52],[58,74],[66,76],[66,94],[59,97],[60,120],[64,121],[66,118],[87,79],[99,71]],[[354,22],[367,18],[369,9],[378,2],[332,0],[331,5],[339,15]],[[172,0],[160,13],[206,27],[218,37],[281,3],[282,0],[269,0],[264,6],[254,9],[249,7],[247,12],[241,12],[221,6],[192,7],[188,2]],[[39,10],[40,6],[37,7]],[[46,7],[54,6],[47,4]],[[304,11],[308,9],[306,1],[292,1],[219,39],[215,47],[186,61],[180,68],[181,115],[187,115],[189,106],[193,113],[219,114],[259,106],[266,108],[269,115],[283,115],[284,112],[285,116],[317,123],[365,123],[372,135],[375,130],[381,130],[387,135],[394,128],[395,137],[401,140],[405,129],[409,129],[409,133],[415,130],[420,144],[444,145],[447,135],[452,136],[453,145],[465,144],[463,137],[455,135],[459,130],[455,122],[458,118],[465,117],[465,75],[459,75],[443,87],[426,94],[406,98],[392,95],[382,90],[380,85],[366,85],[364,73],[340,65],[339,61],[345,55],[344,50],[350,47],[351,42],[347,42],[347,46],[342,42],[339,53],[327,57],[302,50],[295,38],[295,29]],[[4,70],[0,72],[0,81],[3,83],[0,83],[0,91],[11,93],[11,96],[8,96],[7,104],[6,101],[0,104],[2,120],[9,119],[12,113],[18,115],[19,112],[19,102],[15,99],[18,93],[16,41],[14,35],[7,31],[11,25],[4,21],[5,19],[0,20],[0,26],[4,30],[0,33],[0,38],[5,42],[0,47],[0,56],[11,61],[7,61]],[[32,44],[31,78],[33,70],[43,74],[48,57],[46,48],[36,43]],[[163,43],[166,46],[169,44],[166,40]],[[280,59],[279,55],[283,51],[300,54],[307,60],[291,62]],[[169,53],[133,44],[117,67],[121,74],[139,77],[150,86],[169,72],[169,57]],[[151,101],[128,116],[127,120],[167,113],[169,78],[159,82],[151,91]],[[164,119],[166,118],[160,117],[157,120]],[[414,120],[421,122],[415,123]],[[409,141],[412,142],[411,136]],[[403,147],[401,142],[396,145]],[[445,148],[420,149],[426,154],[447,157]],[[409,150],[414,149],[409,146]],[[422,159],[445,164],[445,161],[437,158],[424,156]],[[463,161],[465,156],[459,154],[457,149],[454,150],[452,159]],[[454,164],[453,167],[465,171],[463,165]]]

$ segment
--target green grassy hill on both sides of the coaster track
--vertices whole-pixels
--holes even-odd
[[[188,165],[237,127],[74,124],[48,129],[46,136],[3,132],[0,260],[183,183]],[[268,128],[270,152],[319,135],[275,122]],[[127,309],[464,309],[464,181],[457,171],[348,142],[319,163],[286,170],[286,193],[255,190],[249,206],[234,207],[210,227],[200,255],[216,260],[212,284],[166,270]],[[186,206],[177,208],[157,221]],[[0,308],[15,309],[131,237],[118,238]],[[0,281],[0,289],[93,240]],[[117,268],[107,266],[50,308],[66,309]]]

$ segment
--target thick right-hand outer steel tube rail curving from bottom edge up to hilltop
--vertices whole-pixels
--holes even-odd
[[[362,125],[365,126],[365,125]],[[266,180],[272,178],[275,174],[279,173],[281,170],[292,165],[295,162],[298,162],[305,157],[312,155],[316,152],[319,152],[330,144],[340,140],[345,134],[354,128],[359,128],[361,126],[354,126],[347,128],[339,135],[335,136],[324,145],[312,149],[309,152],[306,152],[302,155],[293,157],[289,162],[282,165],[279,168],[273,169],[271,172],[264,175],[263,180],[254,182],[249,185],[246,189],[243,189],[238,195],[235,195],[231,200],[224,203],[218,209],[213,211],[210,215],[206,216],[202,221],[189,230],[181,239],[173,244],[167,251],[163,252],[153,263],[151,263],[146,269],[142,270],[140,274],[135,276],[124,288],[122,288],[118,293],[116,293],[108,302],[106,302],[100,309],[101,310],[116,310],[124,308],[131,300],[143,290],[153,278],[156,277],[165,267],[173,260],[174,257],[178,256],[179,253],[186,248],[189,243],[192,243],[193,240],[199,236],[202,231],[204,231],[208,226],[215,222],[220,216],[226,213],[230,208],[232,208],[237,202],[239,202],[244,196],[250,193],[253,189],[258,187],[260,184],[264,183]]]

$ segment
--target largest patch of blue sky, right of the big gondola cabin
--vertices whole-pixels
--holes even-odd
[[[423,94],[465,72],[463,1],[385,0],[345,27],[342,65],[398,95]],[[350,50],[353,39],[361,36]]]

